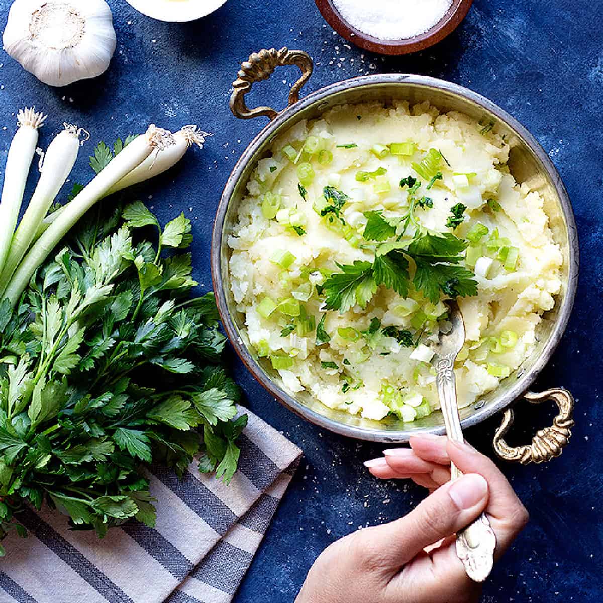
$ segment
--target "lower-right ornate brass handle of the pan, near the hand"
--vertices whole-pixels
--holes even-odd
[[[573,397],[569,391],[561,389],[546,390],[539,394],[528,392],[524,397],[532,404],[538,404],[543,400],[555,400],[559,406],[559,414],[555,417],[553,425],[540,429],[529,446],[509,446],[503,439],[513,424],[513,410],[509,408],[505,411],[502,423],[494,435],[494,450],[505,461],[517,461],[523,465],[545,463],[559,456],[572,436]]]

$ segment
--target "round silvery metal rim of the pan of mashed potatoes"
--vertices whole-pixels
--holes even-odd
[[[239,160],[236,162],[235,167],[230,173],[226,185],[224,186],[224,190],[218,204],[218,209],[216,210],[216,217],[212,230],[211,273],[213,291],[215,292],[218,312],[222,320],[224,330],[230,339],[230,343],[243,364],[248,368],[250,373],[260,383],[260,385],[262,385],[265,390],[271,394],[271,396],[275,397],[283,405],[285,405],[286,408],[295,412],[295,414],[299,415],[300,417],[305,418],[321,428],[335,432],[336,434],[345,435],[358,440],[404,443],[408,441],[409,435],[420,435],[425,433],[443,434],[445,432],[444,425],[435,428],[413,429],[412,432],[403,429],[396,431],[384,431],[376,428],[344,425],[343,423],[332,420],[329,417],[320,414],[320,412],[317,412],[303,403],[298,402],[294,399],[294,397],[282,390],[282,388],[280,388],[272,379],[265,377],[262,368],[239,338],[238,330],[236,329],[233,317],[230,314],[226,303],[226,294],[224,291],[225,283],[223,282],[221,276],[221,248],[223,244],[224,220],[226,218],[227,209],[245,166],[247,166],[248,162],[254,159],[254,155],[256,154],[256,151],[260,145],[265,139],[267,139],[267,137],[270,137],[276,133],[276,131],[279,130],[282,125],[285,124],[285,122],[287,122],[290,118],[293,118],[298,112],[300,112],[300,110],[318,103],[335,93],[342,92],[343,90],[356,89],[374,84],[412,84],[413,86],[422,86],[428,89],[443,90],[444,92],[462,96],[463,98],[478,104],[479,106],[496,115],[500,121],[505,122],[505,124],[507,124],[508,127],[510,127],[511,130],[517,134],[517,136],[523,139],[525,144],[528,145],[532,153],[535,154],[543,168],[546,170],[549,178],[551,178],[555,191],[558,194],[563,216],[566,221],[567,234],[569,238],[567,291],[566,295],[564,295],[564,298],[561,301],[558,317],[555,320],[551,335],[549,336],[549,339],[540,355],[535,359],[533,364],[527,368],[520,377],[517,378],[517,381],[513,387],[511,387],[510,390],[508,390],[503,396],[500,396],[499,399],[495,399],[494,403],[484,405],[482,408],[476,409],[476,411],[473,412],[469,417],[464,418],[461,421],[461,426],[463,429],[481,423],[481,421],[484,421],[500,410],[507,408],[507,406],[510,406],[513,402],[519,399],[522,394],[528,391],[528,388],[534,383],[534,380],[538,374],[551,359],[553,352],[560,343],[561,337],[566,330],[578,286],[578,232],[576,229],[572,204],[569,199],[569,195],[567,195],[566,188],[561,181],[561,177],[553,165],[550,157],[541,147],[540,143],[534,138],[534,136],[532,136],[532,134],[529,133],[529,131],[519,121],[517,121],[516,118],[499,107],[496,103],[493,103],[493,101],[490,101],[490,99],[473,92],[473,90],[469,90],[463,86],[459,86],[458,84],[453,84],[445,80],[439,80],[437,78],[432,78],[425,75],[375,74],[364,75],[361,77],[352,78],[350,80],[338,81],[330,84],[329,86],[318,89],[308,96],[305,96],[300,101],[297,101],[297,103],[286,107],[286,109],[282,110],[276,116],[276,118],[265,125],[265,127],[259,131],[253,140],[251,140],[250,144],[245,148],[241,157],[239,157]]]

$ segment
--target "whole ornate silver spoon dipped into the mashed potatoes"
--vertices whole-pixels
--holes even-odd
[[[450,301],[449,308],[452,328],[447,333],[440,333],[440,340],[432,346],[432,350],[435,351],[432,364],[437,370],[436,385],[446,433],[450,440],[463,442],[463,431],[456,403],[454,361],[465,343],[465,323],[456,301]],[[457,479],[461,475],[463,474],[452,463],[450,479]],[[463,562],[467,576],[475,582],[484,582],[490,575],[494,564],[494,549],[496,549],[496,534],[485,513],[456,534],[456,555]]]

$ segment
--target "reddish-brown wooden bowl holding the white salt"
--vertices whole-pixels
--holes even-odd
[[[335,8],[333,0],[315,2],[324,19],[340,36],[360,48],[379,54],[408,54],[433,46],[458,27],[473,4],[473,0],[452,0],[446,14],[424,33],[400,40],[381,40],[350,25]]]

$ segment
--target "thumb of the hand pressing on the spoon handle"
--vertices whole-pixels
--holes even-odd
[[[470,473],[444,484],[404,517],[373,528],[373,535],[388,543],[390,567],[397,570],[426,546],[469,525],[487,504],[488,483]]]

